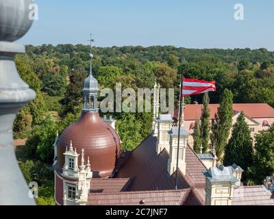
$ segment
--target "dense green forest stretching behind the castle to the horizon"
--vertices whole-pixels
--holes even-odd
[[[14,138],[27,140],[18,162],[25,179],[36,179],[40,185],[42,192],[36,200],[39,205],[54,205],[52,145],[56,133],[62,133],[79,118],[89,53],[90,46],[83,44],[43,44],[27,45],[26,53],[16,56],[18,73],[37,94],[17,115]],[[151,89],[156,80],[162,88],[175,88],[176,108],[183,73],[188,78],[216,81],[217,91],[209,94],[210,103],[219,103],[229,90],[233,103],[268,103],[274,107],[273,51],[138,46],[92,47],[92,53],[92,72],[100,89],[114,89],[117,82],[122,89]],[[186,99],[186,103],[194,101],[202,103],[203,95]],[[111,116],[116,119],[123,150],[135,149],[151,131],[151,113]]]

